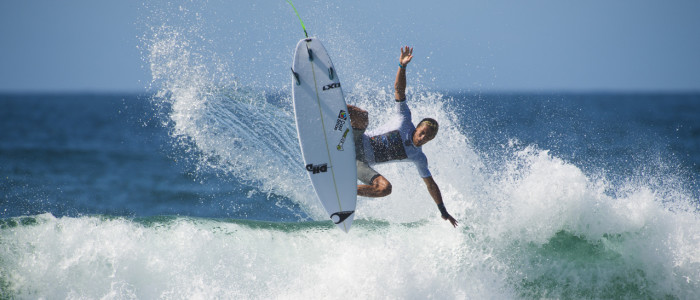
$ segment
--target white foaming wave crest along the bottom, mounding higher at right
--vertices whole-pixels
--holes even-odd
[[[6,222],[2,289],[107,299],[698,296],[695,213],[669,211],[647,188],[605,196],[546,152],[518,154],[531,162],[490,191],[510,200],[464,200],[474,203],[455,211],[457,230],[438,218],[358,223],[350,234],[188,218]]]

